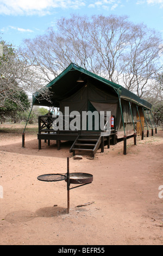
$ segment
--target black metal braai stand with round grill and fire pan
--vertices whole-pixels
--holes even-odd
[[[66,174],[43,174],[37,177],[41,181],[61,181],[67,182],[67,214],[70,212],[70,190],[73,188],[81,187],[92,183],[93,175],[89,173],[70,173],[69,170],[69,157],[67,157],[67,173]],[[79,184],[78,186],[71,187],[70,184]]]

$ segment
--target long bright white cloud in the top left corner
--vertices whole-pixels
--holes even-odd
[[[5,15],[46,15],[54,8],[78,9],[86,0],[0,0],[0,14]]]

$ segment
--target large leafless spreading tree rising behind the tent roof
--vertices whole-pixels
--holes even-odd
[[[162,70],[160,44],[159,32],[135,25],[127,16],[72,15],[46,34],[24,40],[23,54],[46,82],[73,62],[146,97]]]

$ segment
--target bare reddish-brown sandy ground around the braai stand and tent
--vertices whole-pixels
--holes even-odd
[[[74,160],[70,144],[42,142],[38,150],[37,136],[27,134],[22,148],[21,134],[0,132],[0,245],[162,245],[163,132],[127,145],[127,155],[118,142],[93,160]],[[69,214],[66,182],[37,180],[66,173],[67,157],[70,173],[93,175],[70,190]]]

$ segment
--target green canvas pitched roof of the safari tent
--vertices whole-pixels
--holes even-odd
[[[105,78],[95,75],[90,71],[87,71],[80,66],[71,63],[64,71],[61,72],[59,76],[54,78],[51,82],[47,84],[45,88],[48,88],[52,94],[51,102],[46,99],[39,99],[39,92],[33,94],[33,104],[41,106],[54,106],[59,107],[59,102],[66,99],[66,97],[76,93],[80,88],[84,86],[85,82],[77,82],[79,75],[82,75],[84,80],[91,79],[93,82],[100,82],[101,87],[104,90],[112,90],[113,93],[119,95],[122,99],[134,102],[137,105],[143,106],[147,109],[151,109],[151,103],[140,99],[136,94],[131,93],[126,88],[120,86]]]

